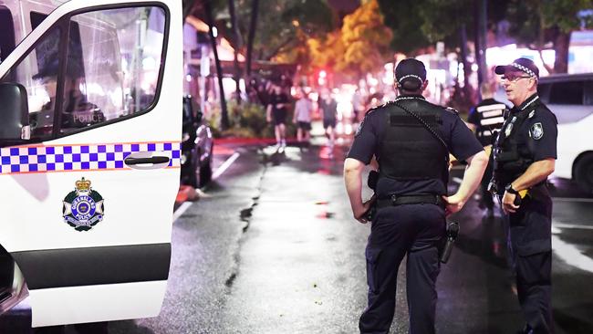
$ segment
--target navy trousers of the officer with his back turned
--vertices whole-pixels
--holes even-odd
[[[434,333],[437,244],[444,231],[444,211],[434,204],[404,204],[377,212],[365,251],[369,306],[360,316],[360,333],[389,333],[398,268],[406,255],[410,333]]]

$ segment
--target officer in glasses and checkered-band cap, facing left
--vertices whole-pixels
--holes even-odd
[[[537,96],[539,70],[527,58],[494,68],[514,107],[494,143],[494,185],[508,225],[517,295],[525,318],[519,333],[553,333],[550,306],[552,200],[546,178],[557,158],[557,119]],[[519,200],[520,198],[520,200]]]

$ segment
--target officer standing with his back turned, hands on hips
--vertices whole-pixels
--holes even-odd
[[[389,333],[398,268],[407,255],[410,332],[434,333],[438,244],[445,234],[445,215],[461,210],[477,188],[487,156],[455,110],[422,97],[428,81],[420,61],[402,60],[395,78],[401,96],[369,110],[344,162],[352,212],[363,224],[371,203],[362,202],[362,172],[373,156],[379,162],[377,212],[365,251],[369,306],[359,319],[359,329]],[[458,192],[447,197],[450,152],[468,167]]]

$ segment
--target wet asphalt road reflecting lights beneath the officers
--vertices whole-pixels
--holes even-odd
[[[358,331],[369,226],[351,218],[341,176],[346,148],[329,157],[315,146],[284,154],[235,146],[219,150],[215,165],[234,151],[239,158],[174,223],[161,315],[111,322],[110,333]],[[451,192],[462,173],[453,171]],[[593,333],[593,196],[552,182],[557,333]],[[522,326],[500,214],[483,215],[472,200],[453,217],[462,233],[437,283],[438,333],[512,333]],[[404,264],[396,298],[391,332],[407,333]],[[21,313],[0,318],[0,332],[7,319],[26,328],[30,316]]]

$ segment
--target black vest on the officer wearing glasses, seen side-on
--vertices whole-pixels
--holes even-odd
[[[534,153],[530,150],[524,136],[521,140],[519,130],[531,112],[536,112],[536,106],[511,113],[505,120],[505,125],[494,142],[494,180],[498,189],[505,189],[505,185],[515,181],[534,162]]]

